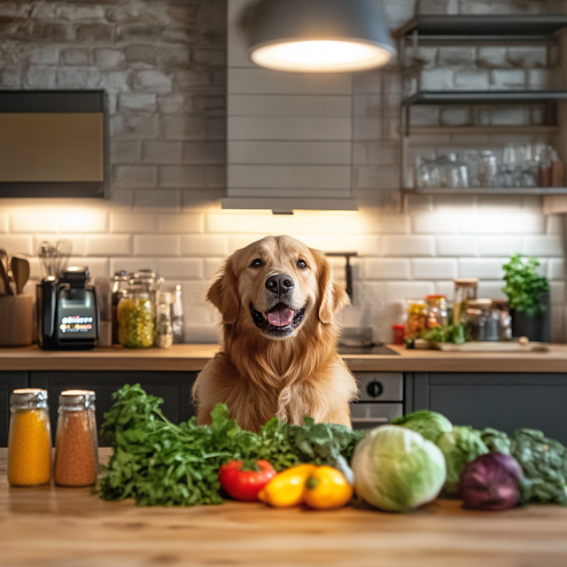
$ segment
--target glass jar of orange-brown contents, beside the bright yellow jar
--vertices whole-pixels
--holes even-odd
[[[97,481],[95,392],[66,390],[59,396],[53,478],[60,486],[89,486]]]

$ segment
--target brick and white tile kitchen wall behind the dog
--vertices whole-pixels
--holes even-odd
[[[429,0],[440,13],[554,12],[560,3]],[[392,27],[410,18],[414,0],[385,0]],[[423,76],[474,88],[541,82],[556,54],[486,47],[420,50]],[[452,293],[454,276],[480,276],[480,293],[501,297],[501,264],[511,252],[540,256],[552,280],[555,338],[563,338],[562,224],[539,198],[413,198],[399,213],[395,67],[355,77],[354,190],[358,214],[221,211],[226,169],[226,4],[222,0],[0,2],[0,88],[105,89],[111,113],[112,198],[4,200],[0,246],[35,255],[43,239],[74,243],[75,263],[94,276],[153,268],[167,285],[183,283],[187,336],[215,340],[217,315],[206,288],[231,251],[267,234],[287,233],[326,251],[357,250],[354,302],[346,325],[369,325],[390,340],[403,299]],[[422,123],[477,120],[468,108],[430,109]],[[508,123],[537,123],[523,109]],[[491,115],[492,117],[492,115]],[[482,120],[493,120],[493,118]],[[481,122],[485,123],[485,122]],[[480,136],[477,144],[507,140]],[[416,147],[454,147],[441,136]],[[470,142],[470,140],[469,140]],[[433,145],[437,144],[437,145]],[[333,260],[343,277],[341,260]],[[40,276],[37,260],[32,277]],[[30,288],[31,289],[31,283]]]

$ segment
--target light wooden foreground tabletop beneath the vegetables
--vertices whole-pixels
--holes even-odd
[[[0,449],[2,567],[567,565],[567,508],[555,505],[491,513],[439,499],[410,514],[232,501],[136,508],[89,488],[9,487],[5,458]]]

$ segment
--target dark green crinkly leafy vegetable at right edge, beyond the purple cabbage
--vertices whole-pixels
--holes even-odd
[[[567,449],[542,431],[519,429],[511,439],[511,453],[524,470],[522,500],[567,505]]]

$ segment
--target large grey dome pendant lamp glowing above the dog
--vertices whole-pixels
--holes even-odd
[[[277,71],[365,71],[395,52],[382,9],[370,0],[260,0],[249,18],[252,61]]]

